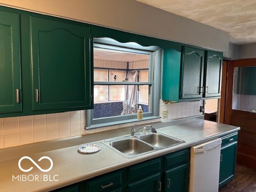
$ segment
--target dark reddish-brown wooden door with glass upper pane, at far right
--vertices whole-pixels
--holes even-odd
[[[228,74],[227,74],[227,86],[226,86],[226,106],[225,106],[225,124],[239,126],[241,130],[238,134],[238,152],[237,162],[241,165],[248,166],[256,169],[256,113],[246,111],[246,108],[238,109],[236,102],[233,98],[239,95],[240,98],[247,98],[246,94],[239,94],[240,90],[238,86],[235,86],[234,81],[244,82],[244,80],[238,80],[237,74],[239,67],[256,67],[256,59],[242,59],[228,61]],[[236,75],[234,78],[234,74]],[[242,77],[242,76],[239,76]],[[255,86],[255,85],[254,85]],[[254,89],[252,87],[252,89]],[[250,95],[249,95],[250,96]],[[252,95],[251,95],[252,97]],[[234,102],[233,102],[234,101]],[[249,100],[241,100],[246,104],[250,104]],[[233,106],[232,106],[233,102]],[[251,102],[252,103],[252,102]],[[255,103],[254,103],[255,104]],[[254,106],[254,105],[252,105]],[[255,106],[254,106],[255,107]]]

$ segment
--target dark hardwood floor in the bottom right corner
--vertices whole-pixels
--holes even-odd
[[[236,176],[219,192],[256,192],[256,170],[236,164]]]

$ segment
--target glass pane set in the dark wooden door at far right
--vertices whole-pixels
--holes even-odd
[[[235,67],[232,109],[256,112],[256,66]]]

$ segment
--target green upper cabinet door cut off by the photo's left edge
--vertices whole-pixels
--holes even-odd
[[[0,11],[0,114],[21,112],[20,15]]]

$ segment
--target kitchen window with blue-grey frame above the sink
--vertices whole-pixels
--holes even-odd
[[[94,39],[94,109],[86,128],[132,122],[139,105],[144,119],[157,118],[160,49],[102,39]]]

